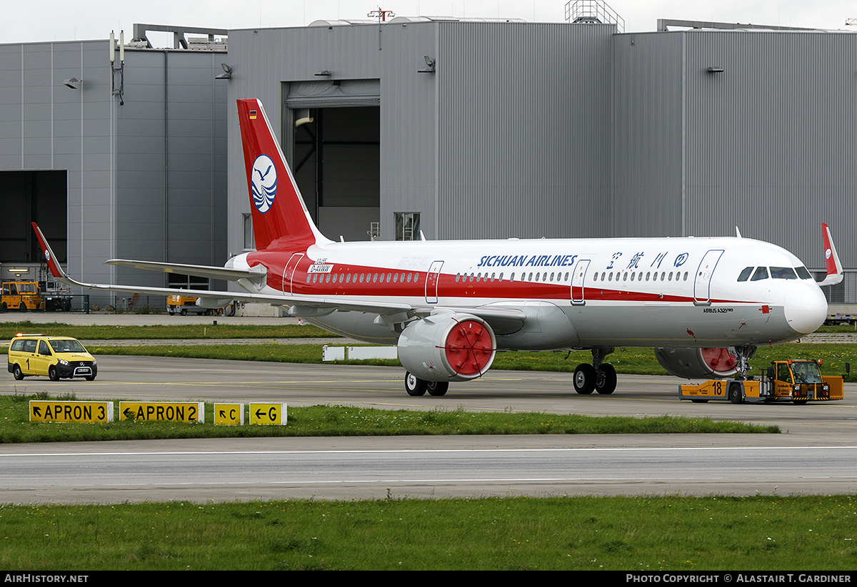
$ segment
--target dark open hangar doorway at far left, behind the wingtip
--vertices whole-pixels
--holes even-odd
[[[68,172],[0,171],[0,263],[38,263],[39,242],[30,222],[39,224],[61,263],[67,251]],[[5,279],[7,276],[3,276]]]

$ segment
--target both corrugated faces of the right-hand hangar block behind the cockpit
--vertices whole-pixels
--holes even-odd
[[[854,269],[854,50],[848,33],[616,35],[611,175],[625,206],[611,232],[731,235],[738,226],[823,269],[829,222]]]

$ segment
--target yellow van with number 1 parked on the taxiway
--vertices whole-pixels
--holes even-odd
[[[40,375],[51,381],[72,377],[93,381],[98,365],[76,338],[17,335],[9,342],[9,373],[18,380]]]

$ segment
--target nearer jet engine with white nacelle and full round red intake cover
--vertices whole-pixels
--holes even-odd
[[[399,361],[425,381],[470,381],[494,362],[494,330],[480,317],[439,313],[409,323],[399,335]]]

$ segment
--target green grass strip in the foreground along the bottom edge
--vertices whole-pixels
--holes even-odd
[[[740,570],[814,583],[857,559],[854,495],[536,499],[510,488],[481,499],[7,505],[0,525],[5,572]]]

